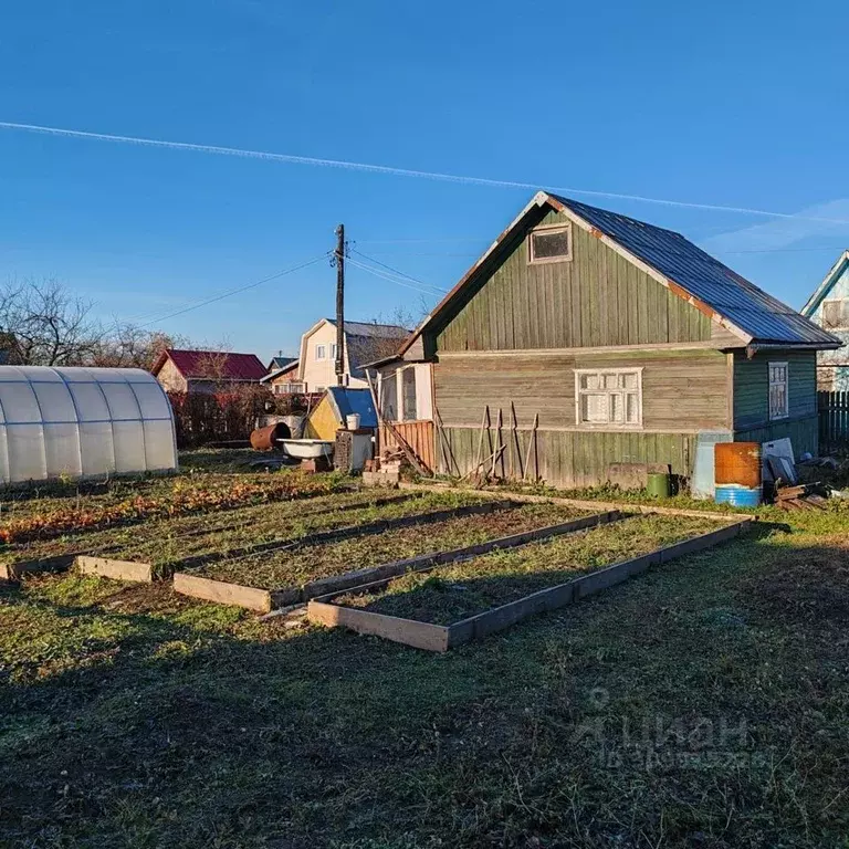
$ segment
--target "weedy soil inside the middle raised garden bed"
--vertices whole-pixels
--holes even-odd
[[[587,514],[555,504],[524,504],[421,527],[386,531],[374,536],[305,545],[292,551],[264,552],[211,564],[192,574],[260,589],[283,589],[390,560],[475,545],[568,522],[581,515]]]

